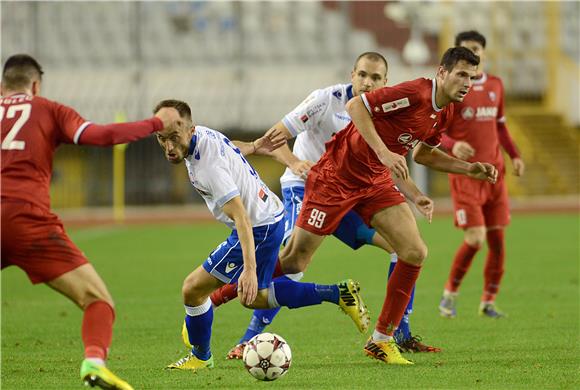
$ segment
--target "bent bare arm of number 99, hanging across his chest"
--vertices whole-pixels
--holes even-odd
[[[356,129],[375,152],[380,162],[389,168],[395,176],[406,180],[409,177],[409,168],[405,157],[391,152],[379,137],[373,124],[371,115],[360,96],[354,97],[346,104],[346,111],[350,115]]]

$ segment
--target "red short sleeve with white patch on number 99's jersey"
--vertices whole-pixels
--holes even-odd
[[[407,110],[417,102],[417,90],[405,83],[365,92],[361,98],[372,116],[387,117]]]

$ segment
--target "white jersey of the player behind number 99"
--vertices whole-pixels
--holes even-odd
[[[317,162],[325,152],[325,143],[350,122],[346,103],[353,97],[352,84],[336,84],[313,91],[282,123],[293,136],[293,153],[301,160]],[[280,178],[282,188],[304,186],[304,178],[286,168]]]

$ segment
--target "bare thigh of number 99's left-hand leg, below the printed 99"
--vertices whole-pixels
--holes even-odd
[[[304,272],[325,237],[296,226],[290,240],[280,251],[282,271],[287,274]]]

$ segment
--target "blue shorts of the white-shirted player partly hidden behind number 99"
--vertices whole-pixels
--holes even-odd
[[[303,186],[291,186],[282,188],[282,196],[284,198],[284,208],[286,209],[286,223],[284,226],[284,241],[292,235],[294,225],[300,214],[302,208],[302,200],[304,199]],[[358,249],[365,244],[371,244],[372,238],[375,234],[373,228],[368,227],[362,218],[355,212],[349,211],[336,230],[332,233],[333,236],[350,246],[352,249]]]

